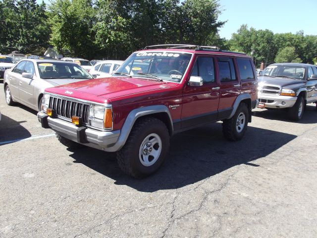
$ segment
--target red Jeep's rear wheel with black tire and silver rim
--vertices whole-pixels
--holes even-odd
[[[230,141],[241,140],[247,130],[248,121],[249,109],[245,103],[241,103],[232,118],[223,120],[224,137]]]

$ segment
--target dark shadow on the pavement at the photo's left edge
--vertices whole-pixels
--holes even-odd
[[[1,114],[0,146],[31,137],[31,133],[20,125],[23,122],[26,120],[16,121]]]

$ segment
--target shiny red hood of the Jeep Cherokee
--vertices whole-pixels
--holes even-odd
[[[87,101],[105,103],[110,99],[166,89],[177,85],[179,84],[144,78],[109,77],[69,83],[47,88],[45,91]]]

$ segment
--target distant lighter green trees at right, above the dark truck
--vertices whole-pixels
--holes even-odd
[[[256,30],[241,25],[229,40],[230,50],[244,52],[253,57],[257,67],[276,60],[289,60],[314,63],[317,57],[317,36],[304,36],[303,31],[296,34],[273,34],[270,30]],[[287,50],[289,52],[287,52]],[[298,58],[298,59],[297,59]]]

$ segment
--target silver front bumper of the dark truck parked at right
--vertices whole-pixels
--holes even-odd
[[[297,97],[258,94],[258,99],[259,107],[264,104],[265,108],[291,108],[296,103]]]

